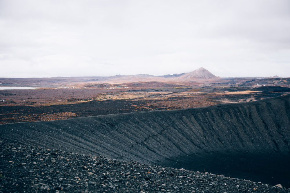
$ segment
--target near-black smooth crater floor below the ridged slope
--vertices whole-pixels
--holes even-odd
[[[176,157],[162,164],[173,168],[223,174],[226,177],[264,182],[271,185],[278,183],[290,187],[290,155],[279,153],[220,153],[210,155]]]

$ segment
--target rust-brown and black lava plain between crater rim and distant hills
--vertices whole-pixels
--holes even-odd
[[[257,90],[257,91],[255,91]],[[289,94],[287,87],[0,90],[0,124],[173,110],[256,101]],[[5,102],[3,102],[3,100]]]

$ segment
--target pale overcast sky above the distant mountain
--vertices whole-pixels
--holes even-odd
[[[0,77],[290,77],[289,0],[0,0]]]

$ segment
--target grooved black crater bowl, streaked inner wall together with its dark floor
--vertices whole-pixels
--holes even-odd
[[[290,187],[289,102],[3,124],[0,139]]]

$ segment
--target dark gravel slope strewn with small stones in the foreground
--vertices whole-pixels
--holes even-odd
[[[0,141],[0,192],[290,192],[236,178]]]

